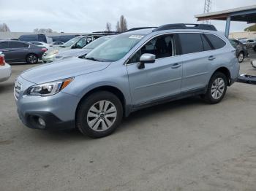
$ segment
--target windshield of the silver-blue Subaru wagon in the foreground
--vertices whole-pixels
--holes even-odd
[[[86,59],[93,61],[115,62],[124,57],[140,40],[143,35],[121,34],[95,48]]]

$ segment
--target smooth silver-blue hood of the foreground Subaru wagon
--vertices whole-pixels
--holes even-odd
[[[110,62],[71,58],[34,67],[24,71],[20,76],[29,82],[40,84],[100,71],[109,65]]]

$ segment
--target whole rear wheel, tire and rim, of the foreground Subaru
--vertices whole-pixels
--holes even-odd
[[[217,104],[222,101],[227,91],[227,77],[222,72],[216,72],[208,83],[206,94],[203,99],[209,104]]]

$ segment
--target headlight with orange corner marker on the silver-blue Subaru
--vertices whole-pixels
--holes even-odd
[[[33,85],[29,87],[28,95],[48,96],[59,93],[63,90],[74,78],[61,79],[55,82],[48,82],[41,85]]]

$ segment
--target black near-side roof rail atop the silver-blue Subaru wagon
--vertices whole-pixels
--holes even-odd
[[[159,26],[155,28],[154,31],[165,31],[171,29],[200,29],[200,30],[208,30],[208,31],[217,31],[215,26],[207,25],[207,24],[189,24],[189,23],[178,23],[178,24],[168,24]]]

